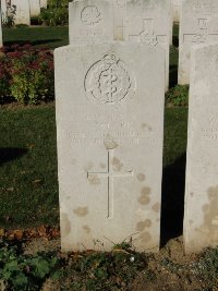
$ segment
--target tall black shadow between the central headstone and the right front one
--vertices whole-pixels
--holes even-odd
[[[160,245],[183,232],[186,155],[183,154],[162,173]]]

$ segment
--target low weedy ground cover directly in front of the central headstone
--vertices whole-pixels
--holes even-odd
[[[138,272],[147,267],[148,257],[116,245],[110,253],[85,252],[73,254],[65,276],[73,276],[71,289],[64,290],[120,290],[129,286]],[[153,278],[150,274],[144,276]]]

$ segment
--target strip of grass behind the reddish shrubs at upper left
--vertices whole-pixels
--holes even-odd
[[[4,46],[29,43],[36,47],[48,46],[53,49],[69,45],[69,28],[66,26],[3,28],[3,43]]]

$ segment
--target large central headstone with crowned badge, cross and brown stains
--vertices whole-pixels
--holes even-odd
[[[55,65],[62,250],[132,241],[157,251],[165,51],[68,46],[55,51]]]

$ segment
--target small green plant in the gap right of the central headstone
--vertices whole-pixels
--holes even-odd
[[[166,94],[167,106],[187,106],[189,105],[189,85],[177,85],[170,88]]]

